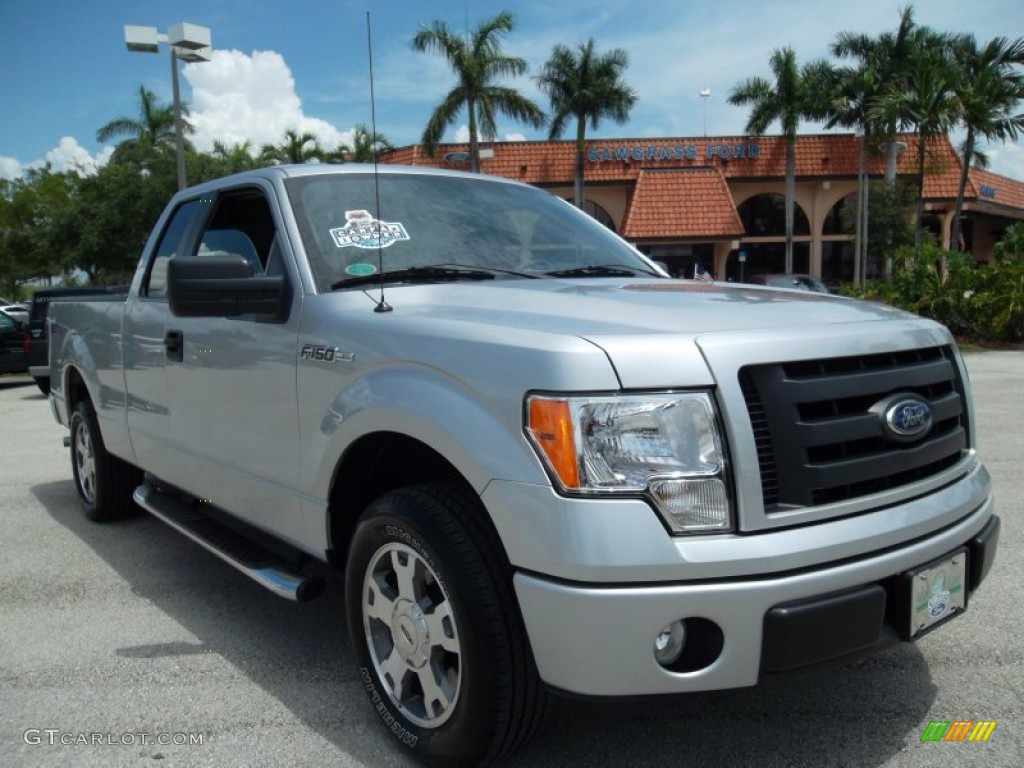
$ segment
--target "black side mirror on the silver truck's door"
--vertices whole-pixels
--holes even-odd
[[[178,256],[167,262],[167,298],[178,317],[282,319],[290,294],[284,275],[254,278],[242,256]]]

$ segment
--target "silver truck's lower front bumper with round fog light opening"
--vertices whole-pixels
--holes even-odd
[[[955,524],[905,545],[771,578],[595,586],[520,571],[514,584],[541,677],[554,688],[596,696],[738,688],[895,641],[886,609],[894,578],[958,547],[968,547],[968,586],[977,589],[997,545],[992,510],[988,497]],[[671,672],[654,659],[654,638],[690,617],[720,629],[720,652],[701,669]]]

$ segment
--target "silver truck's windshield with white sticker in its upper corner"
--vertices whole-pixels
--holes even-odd
[[[489,269],[498,280],[662,276],[604,225],[529,186],[382,170],[378,209],[370,173],[287,184],[321,291],[365,286],[380,270],[440,265]]]

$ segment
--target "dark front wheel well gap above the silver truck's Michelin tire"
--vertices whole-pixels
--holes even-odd
[[[425,482],[469,482],[443,456],[408,435],[379,432],[353,443],[335,470],[328,500],[329,559],[344,568],[348,543],[362,510],[389,490]],[[486,520],[490,524],[490,520]]]

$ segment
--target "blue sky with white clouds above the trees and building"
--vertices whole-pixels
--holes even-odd
[[[769,75],[775,48],[801,61],[827,56],[841,31],[877,35],[895,29],[902,0],[0,0],[0,177],[48,161],[85,170],[112,146],[96,129],[134,117],[138,86],[170,101],[170,57],[129,52],[124,25],[180,22],[211,28],[213,59],[182,69],[182,97],[193,106],[196,145],[215,139],[279,142],[288,129],[308,131],[326,147],[370,123],[366,13],[373,25],[378,131],[392,143],[419,140],[432,108],[452,86],[438,56],[415,53],[420,25],[443,19],[457,31],[502,9],[516,16],[506,52],[536,74],[552,46],[593,37],[601,50],[630,55],[626,78],[639,100],[625,126],[605,123],[594,138],[684,137],[742,133],[746,111],[725,96],[740,80]],[[919,0],[919,24],[970,32],[979,40],[1024,36],[1021,0]],[[514,83],[546,105],[532,80]],[[699,92],[710,89],[707,103]],[[502,139],[546,135],[510,121]],[[820,130],[805,125],[803,132]],[[465,117],[445,140],[464,140]],[[566,137],[570,137],[566,134]],[[992,170],[1024,179],[1024,144],[988,147]]]

